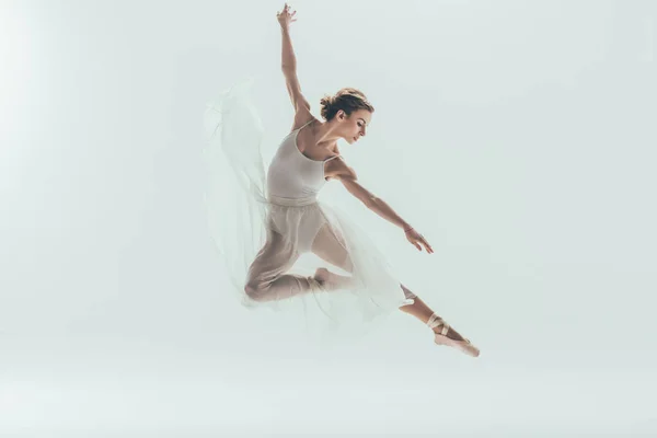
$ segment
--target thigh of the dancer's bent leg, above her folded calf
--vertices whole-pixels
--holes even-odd
[[[289,270],[299,254],[280,233],[268,229],[267,241],[249,267],[247,283],[269,283]]]

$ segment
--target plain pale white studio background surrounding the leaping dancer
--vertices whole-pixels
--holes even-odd
[[[657,434],[655,2],[292,4],[315,115],[368,95],[343,154],[436,253],[322,195],[477,359],[402,312],[304,343],[226,291],[203,112],[255,77],[273,154],[281,8],[2,1],[0,435]]]

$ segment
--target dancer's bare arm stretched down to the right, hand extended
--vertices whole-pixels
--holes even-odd
[[[431,245],[426,241],[426,239],[419,234],[413,227],[408,224],[401,216],[399,216],[388,203],[383,199],[377,197],[370,191],[365,188],[360,183],[358,183],[358,176],[354,169],[349,168],[342,157],[328,161],[326,164],[324,175],[328,178],[339,180],[339,182],[345,186],[345,188],[358,198],[367,208],[388,220],[389,222],[394,223],[404,230],[406,239],[408,242],[413,243],[417,250],[422,251],[422,247],[418,243],[422,243],[425,246],[427,253],[433,253],[434,250]]]

